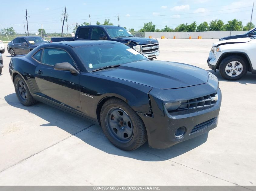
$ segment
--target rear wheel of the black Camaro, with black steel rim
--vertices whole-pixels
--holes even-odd
[[[34,105],[37,101],[32,97],[28,89],[27,84],[20,75],[16,75],[14,78],[15,92],[20,103],[25,106]]]

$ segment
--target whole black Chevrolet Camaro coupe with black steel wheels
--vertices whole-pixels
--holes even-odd
[[[109,141],[168,148],[215,128],[218,79],[176,62],[150,61],[114,41],[47,43],[10,60],[19,101],[59,107],[99,123]]]

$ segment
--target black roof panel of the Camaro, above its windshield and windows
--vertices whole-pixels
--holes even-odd
[[[61,41],[54,42],[52,44],[66,44],[71,47],[79,47],[79,46],[91,46],[91,45],[100,45],[100,44],[117,44],[117,41],[110,40],[72,40],[72,41]]]

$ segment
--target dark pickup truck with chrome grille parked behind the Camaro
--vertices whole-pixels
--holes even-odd
[[[113,25],[89,25],[77,28],[75,37],[52,37],[51,42],[70,40],[111,40],[121,42],[149,59],[159,55],[158,40],[134,37],[123,27]]]

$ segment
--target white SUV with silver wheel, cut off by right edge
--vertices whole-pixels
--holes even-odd
[[[256,74],[256,39],[239,38],[213,43],[208,66],[226,80],[238,80],[248,71]]]

